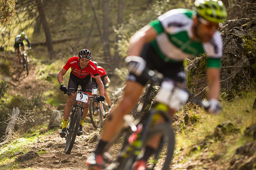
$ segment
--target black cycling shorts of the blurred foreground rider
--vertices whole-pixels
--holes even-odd
[[[171,78],[177,82],[181,82],[185,85],[185,71],[183,66],[183,61],[177,63],[165,62],[155,51],[152,44],[148,43],[144,46],[142,53],[140,55],[147,62],[146,67],[151,70],[156,70],[161,72],[164,77]],[[138,82],[145,86],[148,79],[142,76],[136,76],[130,73],[127,80]]]

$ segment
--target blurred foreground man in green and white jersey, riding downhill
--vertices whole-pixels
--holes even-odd
[[[210,103],[208,112],[220,112],[218,96],[222,39],[217,30],[225,21],[227,12],[220,0],[195,0],[194,5],[195,10],[173,9],[162,14],[130,38],[129,56],[126,58],[131,61],[128,63],[130,74],[124,95],[105,121],[97,148],[86,161],[89,168],[104,168],[104,147],[121,127],[123,116],[130,112],[140,98],[147,82],[141,76],[145,67],[185,84],[183,60],[205,53]],[[171,117],[174,111],[170,109]],[[158,142],[150,141],[144,156],[135,162],[134,169],[147,169],[147,159],[158,147]]]

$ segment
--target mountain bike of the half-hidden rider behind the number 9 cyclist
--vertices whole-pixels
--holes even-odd
[[[92,88],[92,96],[96,98],[99,96],[97,95],[97,88]],[[108,106],[105,104],[104,101],[98,102],[92,100],[89,106],[90,112],[90,119],[92,121],[92,125],[95,128],[100,128],[102,125],[102,119],[106,117],[108,114]]]

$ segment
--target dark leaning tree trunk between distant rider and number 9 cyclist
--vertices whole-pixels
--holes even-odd
[[[50,59],[52,59],[52,58],[55,58],[55,54],[54,54],[53,45],[52,45],[52,36],[51,36],[50,28],[46,21],[45,11],[44,11],[41,1],[36,0],[36,4],[38,7],[39,17],[43,24],[43,29],[45,31],[45,38],[46,38],[46,42],[47,42],[48,53],[50,54]]]

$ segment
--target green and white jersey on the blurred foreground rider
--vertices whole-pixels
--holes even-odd
[[[209,42],[192,40],[190,9],[172,9],[149,23],[158,33],[151,42],[159,56],[166,62],[180,62],[193,55],[206,54],[208,67],[219,68],[222,57],[222,38],[216,31]]]

